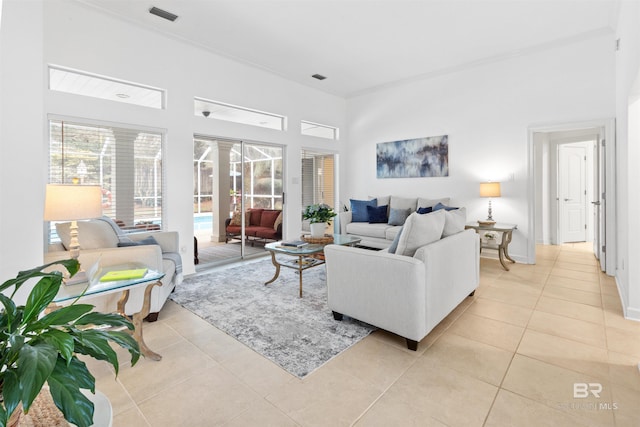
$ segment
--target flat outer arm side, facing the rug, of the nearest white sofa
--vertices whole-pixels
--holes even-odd
[[[328,245],[327,299],[332,311],[420,340],[425,325],[424,264],[412,257]]]

